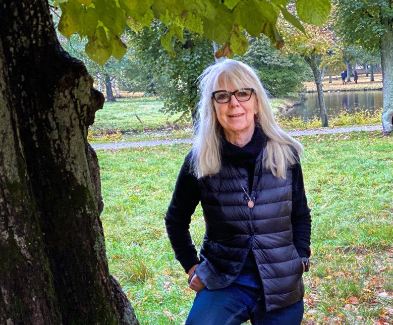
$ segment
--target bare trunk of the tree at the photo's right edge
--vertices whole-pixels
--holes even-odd
[[[393,132],[393,29],[391,20],[386,20],[384,24],[386,31],[379,39],[383,90],[382,132],[391,135]]]

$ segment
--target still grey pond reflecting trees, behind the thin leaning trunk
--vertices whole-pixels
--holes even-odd
[[[338,116],[341,112],[370,111],[383,106],[382,90],[373,91],[334,91],[324,92],[328,117]],[[303,121],[320,116],[317,93],[307,93],[306,100],[295,106],[287,116],[302,117]]]

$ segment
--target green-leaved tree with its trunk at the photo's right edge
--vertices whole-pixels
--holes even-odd
[[[381,54],[383,133],[393,132],[393,2],[391,0],[334,0],[338,30],[346,39]]]

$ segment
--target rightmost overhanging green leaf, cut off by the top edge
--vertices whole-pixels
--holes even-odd
[[[296,11],[305,23],[322,26],[331,10],[330,0],[297,0]]]

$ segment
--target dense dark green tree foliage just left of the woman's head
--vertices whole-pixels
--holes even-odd
[[[137,33],[130,31],[132,47],[139,62],[149,69],[155,91],[163,101],[161,111],[195,117],[198,102],[196,81],[202,71],[214,62],[212,43],[197,33],[184,31],[183,40],[175,40],[174,53],[169,53],[160,46],[160,38],[166,31],[165,25],[160,22]]]

